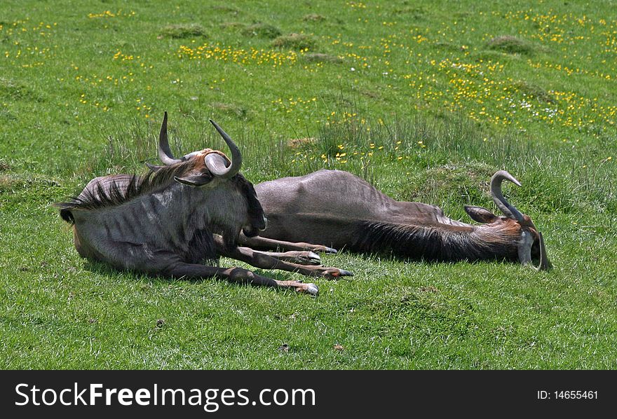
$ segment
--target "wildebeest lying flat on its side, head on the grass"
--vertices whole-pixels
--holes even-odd
[[[316,249],[313,244],[355,252],[392,252],[430,261],[507,259],[548,269],[542,233],[531,219],[503,198],[501,182],[520,182],[504,170],[491,179],[491,196],[505,217],[466,206],[471,225],[445,217],[442,209],[399,202],[348,172],[319,170],[255,186],[268,228],[241,237],[255,249]],[[298,246],[298,243],[304,242]]]

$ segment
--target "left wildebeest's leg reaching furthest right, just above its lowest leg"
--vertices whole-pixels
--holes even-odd
[[[339,268],[327,268],[325,266],[306,266],[297,263],[281,261],[280,259],[269,256],[268,253],[258,252],[249,247],[235,247],[233,249],[218,249],[219,254],[227,256],[238,261],[249,263],[255,268],[262,269],[279,269],[289,272],[297,272],[302,275],[311,277],[325,277],[329,280],[335,280],[343,276],[353,276],[353,273],[348,270]]]

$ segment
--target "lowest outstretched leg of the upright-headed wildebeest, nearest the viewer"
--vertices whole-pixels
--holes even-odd
[[[243,268],[217,268],[214,266],[198,265],[196,263],[178,262],[165,270],[172,277],[205,278],[220,277],[229,282],[243,284],[264,285],[266,287],[292,288],[299,292],[317,295],[319,292],[316,284],[308,284],[300,281],[277,281],[272,278],[262,277],[250,270]]]

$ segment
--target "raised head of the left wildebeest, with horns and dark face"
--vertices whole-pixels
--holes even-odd
[[[234,144],[231,137],[217,123],[212,120],[210,120],[210,123],[214,125],[227,146],[229,146],[231,160],[224,153],[212,149],[193,151],[181,158],[174,158],[168,141],[167,112],[163,116],[163,125],[161,125],[161,132],[158,136],[158,156],[166,166],[184,164],[189,161],[193,163],[191,170],[184,174],[184,176],[174,177],[175,181],[179,184],[186,185],[189,188],[205,189],[213,189],[216,186],[217,191],[227,189],[228,193],[239,193],[243,198],[245,207],[235,208],[234,212],[245,215],[245,219],[241,222],[242,231],[248,237],[253,237],[259,234],[259,231],[263,231],[266,228],[264,209],[259,200],[257,200],[257,193],[255,193],[253,185],[240,174],[242,153],[240,153],[238,146]],[[153,171],[161,168],[161,166],[149,164],[148,167]]]

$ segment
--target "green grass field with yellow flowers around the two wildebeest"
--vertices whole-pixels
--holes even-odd
[[[616,6],[0,2],[0,368],[616,368]],[[255,184],[349,170],[463,221],[508,170],[554,269],[341,252],[311,298],[81,259],[53,202],[155,163],[163,111]]]

